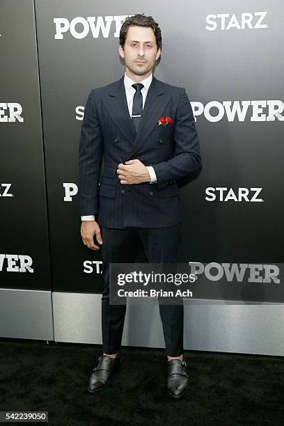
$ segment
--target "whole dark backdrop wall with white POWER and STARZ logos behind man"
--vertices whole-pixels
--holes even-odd
[[[100,252],[80,236],[79,134],[90,90],[123,76],[120,26],[136,13],[159,22],[155,77],[186,89],[200,137],[203,168],[180,182],[180,261],[245,264],[258,283],[255,265],[283,262],[283,1],[2,0],[0,11],[1,287],[102,290]]]

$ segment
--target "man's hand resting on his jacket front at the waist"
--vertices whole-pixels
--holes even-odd
[[[118,164],[118,178],[123,185],[150,182],[151,178],[148,168],[139,159],[125,161],[125,164]]]

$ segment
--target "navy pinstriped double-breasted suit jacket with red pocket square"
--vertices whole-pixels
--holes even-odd
[[[189,98],[184,88],[153,75],[136,133],[123,81],[124,76],[91,90],[86,102],[79,143],[79,215],[95,214],[108,228],[174,225],[180,221],[177,180],[201,165]],[[173,123],[158,126],[161,116],[170,116]],[[118,164],[129,159],[153,166],[157,183],[120,184]]]

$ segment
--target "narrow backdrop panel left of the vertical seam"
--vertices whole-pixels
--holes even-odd
[[[0,288],[51,289],[47,214],[33,1],[3,0],[0,2]]]

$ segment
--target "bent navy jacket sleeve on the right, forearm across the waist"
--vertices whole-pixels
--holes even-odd
[[[168,161],[152,164],[157,182],[183,178],[201,166],[200,147],[194,114],[189,98],[182,88],[174,129],[175,157]]]

